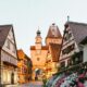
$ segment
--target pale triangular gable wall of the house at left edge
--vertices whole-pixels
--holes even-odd
[[[14,58],[16,58],[16,44],[15,44],[13,27],[10,28],[2,49],[9,54],[12,54]]]

